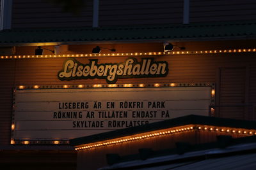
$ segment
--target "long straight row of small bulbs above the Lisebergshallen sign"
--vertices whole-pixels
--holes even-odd
[[[1,59],[35,59],[58,57],[108,57],[108,56],[136,56],[136,55],[180,55],[202,53],[241,53],[256,52],[256,48],[232,49],[232,50],[199,50],[199,51],[175,51],[175,52],[134,52],[134,53],[86,53],[86,54],[61,54],[61,55],[2,55]]]

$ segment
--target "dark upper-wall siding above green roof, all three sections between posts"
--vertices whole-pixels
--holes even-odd
[[[183,0],[99,1],[99,26],[182,24]],[[189,22],[255,20],[256,1],[191,0]],[[78,15],[44,0],[13,0],[12,28],[92,27],[93,0]]]

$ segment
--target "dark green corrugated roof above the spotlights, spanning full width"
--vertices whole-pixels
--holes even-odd
[[[255,39],[255,35],[256,21],[98,28],[11,29],[0,31],[0,45],[36,45],[36,43],[60,45],[115,41],[206,41]]]

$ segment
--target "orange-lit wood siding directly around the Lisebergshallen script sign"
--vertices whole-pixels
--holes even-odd
[[[171,55],[158,56],[155,60],[166,60],[169,63],[169,73],[164,78],[134,78],[119,79],[116,83],[167,83],[167,82],[200,82],[216,81],[216,70],[221,66],[239,65],[255,62],[251,53],[231,53],[228,55]],[[241,58],[243,56],[243,58]],[[137,57],[141,60],[143,57]],[[87,58],[77,58],[81,63],[88,63]],[[99,59],[98,63],[124,62],[127,57],[90,57]],[[74,80],[60,81],[58,71],[63,66],[65,58],[60,59],[20,59],[17,60],[16,85],[52,85],[52,84],[98,84],[105,80]]]

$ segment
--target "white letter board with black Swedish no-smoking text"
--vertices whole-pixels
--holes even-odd
[[[17,89],[13,139],[67,140],[184,115],[209,115],[211,87]]]

